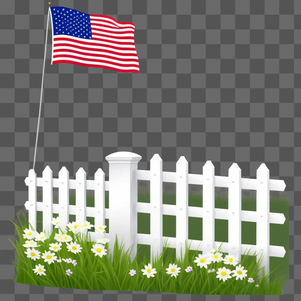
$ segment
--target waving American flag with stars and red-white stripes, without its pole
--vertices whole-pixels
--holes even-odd
[[[139,73],[135,25],[109,16],[51,7],[51,64],[70,63]]]

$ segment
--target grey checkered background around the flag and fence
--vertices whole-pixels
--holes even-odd
[[[0,299],[300,300],[301,1],[50,0],[135,23],[141,74],[68,64],[45,70],[36,172],[62,166],[92,178],[105,156],[133,151],[165,171],[185,155],[189,172],[212,160],[254,177],[265,162],[290,198],[290,281],[284,296],[191,296],[34,287],[12,281],[9,219],[24,209],[39,112],[48,1],[0,2]],[[49,31],[50,33],[50,31]]]

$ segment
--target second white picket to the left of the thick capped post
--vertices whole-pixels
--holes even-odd
[[[86,220],[86,172],[81,167],[76,172],[76,222],[83,224]]]

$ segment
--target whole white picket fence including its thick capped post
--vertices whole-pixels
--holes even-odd
[[[270,246],[269,225],[283,224],[282,213],[270,213],[270,191],[284,191],[282,180],[269,178],[265,164],[257,169],[256,179],[241,178],[241,170],[236,163],[229,168],[228,177],[214,173],[214,166],[207,161],[203,166],[203,175],[188,174],[188,162],[180,157],[176,163],[176,172],[163,172],[162,159],[155,154],[150,161],[150,170],[138,170],[141,156],[130,152],[117,152],[106,157],[109,162],[109,181],[105,181],[104,172],[98,169],[94,180],[87,180],[85,171],[80,168],[75,179],[69,179],[68,170],[63,167],[58,178],[52,177],[52,171],[46,166],[42,178],[37,178],[33,169],[29,170],[25,183],[28,186],[29,200],[25,203],[29,211],[29,222],[36,227],[36,211],[43,212],[43,229],[52,231],[52,214],[58,213],[62,227],[67,225],[69,214],[76,215],[76,222],[83,223],[86,216],[95,218],[95,225],[104,225],[109,219],[109,233],[90,232],[91,239],[101,237],[110,239],[112,248],[115,236],[127,247],[132,246],[135,256],[137,242],[151,245],[151,254],[162,252],[163,214],[176,216],[176,237],[168,237],[170,247],[176,249],[177,256],[185,250],[185,241],[192,250],[208,252],[217,249],[221,242],[214,240],[214,220],[228,220],[228,242],[223,243],[225,253],[236,254],[239,258],[247,249],[260,256],[264,255],[262,266],[269,272],[269,256],[283,257],[284,247]],[[137,202],[138,180],[150,181],[150,203]],[[162,203],[163,182],[176,183],[176,205]],[[203,207],[188,206],[188,184],[203,185]],[[42,187],[42,202],[37,202],[37,187]],[[215,187],[228,188],[228,209],[214,206]],[[53,203],[53,188],[58,188],[58,204]],[[69,205],[69,189],[76,190],[76,205]],[[95,207],[86,206],[86,190],[94,190]],[[241,189],[256,190],[256,210],[241,210]],[[109,209],[104,208],[104,192],[109,191]],[[151,234],[137,233],[137,213],[150,213]],[[203,218],[203,240],[188,239],[188,216]],[[241,221],[256,222],[256,246],[241,244]],[[101,236],[103,235],[103,236]]]

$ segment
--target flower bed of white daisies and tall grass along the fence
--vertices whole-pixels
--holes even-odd
[[[152,264],[136,256],[131,261],[129,250],[116,238],[113,260],[108,255],[108,240],[88,241],[89,222],[70,223],[66,229],[54,219],[52,234],[47,237],[26,228],[26,221],[15,224],[13,243],[17,257],[15,281],[41,286],[88,290],[140,290],[193,294],[283,294],[284,280],[273,275],[259,275],[259,262],[250,253],[239,262],[232,254],[218,250],[201,254],[189,250],[181,259],[173,259],[165,244],[163,253]],[[105,226],[95,226],[104,232]]]

